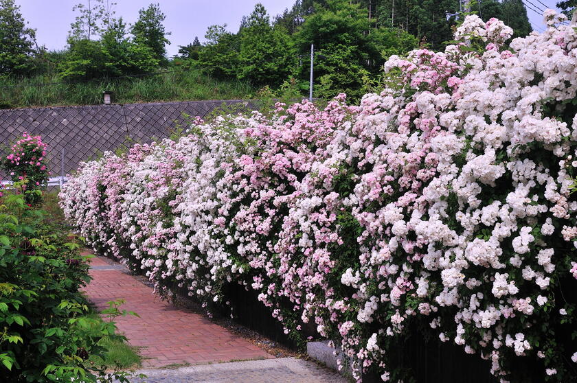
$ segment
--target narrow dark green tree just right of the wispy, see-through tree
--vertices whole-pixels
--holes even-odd
[[[135,43],[150,47],[155,58],[166,64],[166,44],[170,45],[166,36],[169,36],[170,32],[166,32],[164,28],[164,19],[166,15],[160,10],[160,5],[150,4],[148,8],[138,11],[138,20],[132,26],[131,33]]]

